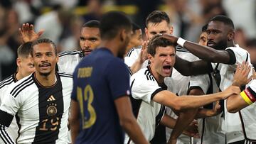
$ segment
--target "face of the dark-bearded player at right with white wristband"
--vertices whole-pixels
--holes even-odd
[[[210,21],[206,30],[208,35],[207,46],[216,50],[225,50],[227,48],[228,31],[230,31],[230,28],[225,26],[223,22]]]

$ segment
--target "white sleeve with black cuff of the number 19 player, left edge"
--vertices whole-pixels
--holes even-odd
[[[6,127],[9,127],[21,105],[21,96],[14,97],[10,92],[11,89],[8,89],[0,106],[0,124]]]

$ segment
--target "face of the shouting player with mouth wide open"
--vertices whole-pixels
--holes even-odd
[[[164,80],[164,77],[171,75],[176,60],[175,55],[176,52],[173,46],[156,48],[154,57],[149,54],[151,71],[156,79],[161,81],[161,79]]]

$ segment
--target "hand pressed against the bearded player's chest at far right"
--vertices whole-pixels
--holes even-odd
[[[252,80],[251,76],[249,79],[248,74],[250,73],[251,66],[249,65],[249,62],[242,62],[242,64],[238,64],[237,69],[235,70],[235,75],[233,79],[233,85],[242,87],[248,82]]]

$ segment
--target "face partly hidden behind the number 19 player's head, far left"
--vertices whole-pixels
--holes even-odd
[[[31,60],[31,55],[28,57],[18,57],[18,72],[21,72],[22,77],[26,77],[35,71],[35,67]]]

